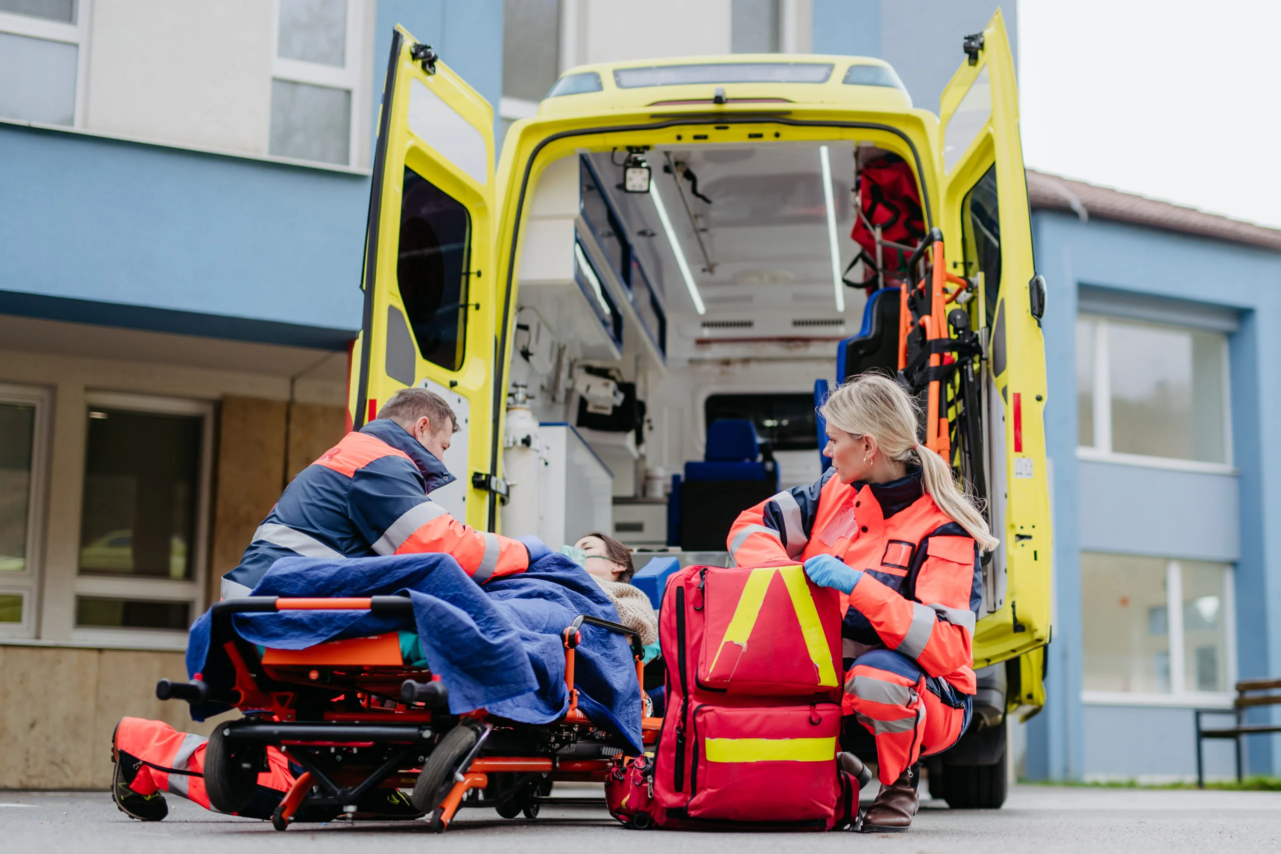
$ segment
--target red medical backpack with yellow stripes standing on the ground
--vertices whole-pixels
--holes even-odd
[[[657,755],[607,783],[632,791],[607,792],[611,807],[649,803],[615,816],[690,830],[848,826],[858,783],[836,767],[842,599],[801,565],[676,572],[658,617],[667,712]],[[642,785],[652,800],[638,798]]]

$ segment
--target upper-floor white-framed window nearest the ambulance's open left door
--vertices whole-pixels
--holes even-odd
[[[354,165],[360,0],[278,0],[268,151]]]

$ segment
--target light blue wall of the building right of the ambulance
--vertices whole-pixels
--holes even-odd
[[[1281,418],[1275,394],[1281,342],[1258,332],[1281,323],[1281,254],[1053,212],[1035,213],[1032,230],[1038,269],[1049,285],[1045,431],[1054,471],[1056,624],[1048,704],[1027,726],[1027,772],[1032,778],[1194,773],[1190,710],[1081,703],[1079,555],[1099,549],[1235,560],[1237,676],[1271,676],[1281,666],[1281,490],[1273,486],[1281,483],[1281,453],[1267,441],[1278,435]],[[1075,321],[1082,299],[1097,310],[1109,295],[1126,315],[1145,304],[1153,319],[1187,310],[1234,319],[1228,359],[1239,474],[1077,460]],[[1258,712],[1258,719],[1266,716]],[[1275,773],[1273,739],[1252,739],[1248,758],[1253,772]]]

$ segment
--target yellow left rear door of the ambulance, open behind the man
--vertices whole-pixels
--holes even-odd
[[[493,109],[397,27],[387,64],[365,235],[364,312],[351,360],[359,430],[398,389],[424,386],[459,415],[432,494],[487,530],[492,483]]]

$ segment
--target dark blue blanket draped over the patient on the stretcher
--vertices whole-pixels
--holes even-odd
[[[560,554],[484,587],[446,554],[348,560],[283,558],[252,595],[407,595],[414,603],[412,621],[365,610],[270,612],[236,614],[232,619],[246,641],[275,649],[416,630],[428,666],[450,689],[452,714],[484,708],[525,723],[550,723],[569,708],[561,631],[579,614],[619,622],[605,591]],[[208,612],[191,627],[187,672],[200,673],[211,689],[222,691],[232,686],[233,672],[222,648],[210,648],[210,627]],[[626,639],[584,624],[574,683],[583,713],[639,753],[640,687]],[[192,717],[202,721],[227,708],[215,703],[192,707]]]

